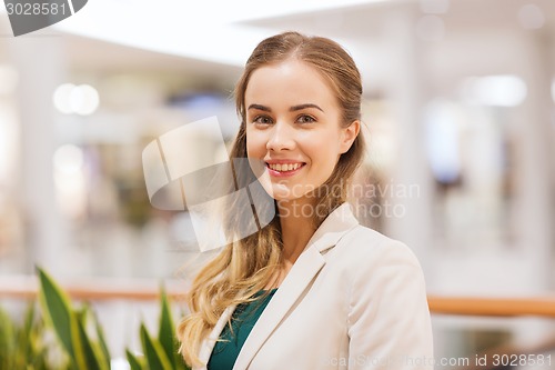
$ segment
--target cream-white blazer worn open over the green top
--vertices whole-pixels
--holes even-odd
[[[203,341],[204,363],[233,310],[224,311]],[[233,367],[243,369],[433,369],[416,258],[403,243],[360,226],[342,204],[316,230],[256,321]]]

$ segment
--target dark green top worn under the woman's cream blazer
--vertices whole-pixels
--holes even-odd
[[[260,291],[254,294],[260,299],[241,303],[235,308],[231,318],[231,328],[226,324],[220,333],[220,339],[210,356],[208,370],[233,369],[241,348],[276,290],[272,289],[268,291],[268,294],[264,294],[265,290]]]

